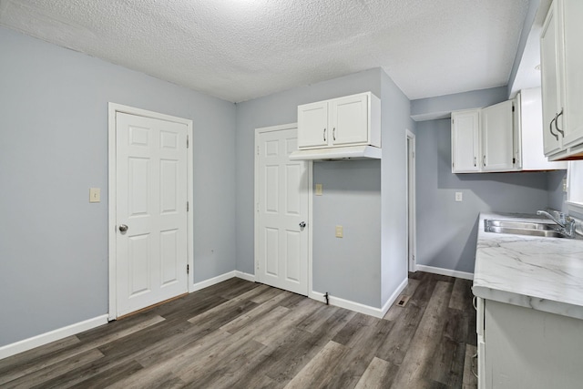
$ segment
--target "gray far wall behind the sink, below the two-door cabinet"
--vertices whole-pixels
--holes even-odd
[[[453,174],[449,119],[417,123],[416,148],[416,259],[421,265],[474,272],[479,212],[543,210],[548,182],[557,181],[547,172]],[[456,191],[463,193],[462,202],[455,202]]]

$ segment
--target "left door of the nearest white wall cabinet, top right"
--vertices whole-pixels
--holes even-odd
[[[555,118],[559,111],[557,37],[557,1],[555,1],[548,10],[547,19],[540,36],[543,141],[546,156],[557,152],[561,148],[561,139],[555,128]]]

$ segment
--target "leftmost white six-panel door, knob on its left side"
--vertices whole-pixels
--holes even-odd
[[[116,114],[117,314],[188,291],[187,126]]]

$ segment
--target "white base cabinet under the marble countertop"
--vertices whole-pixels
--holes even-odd
[[[478,299],[482,300],[482,299]],[[478,388],[580,388],[583,321],[484,300]]]

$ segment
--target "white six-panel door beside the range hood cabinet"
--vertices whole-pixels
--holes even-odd
[[[308,295],[308,162],[290,160],[297,128],[256,137],[256,275],[259,282]]]

